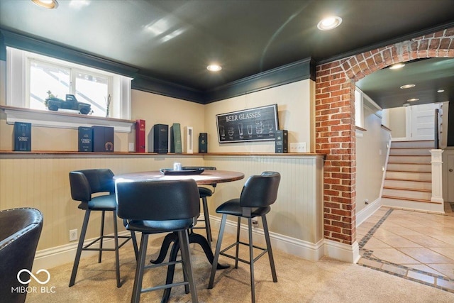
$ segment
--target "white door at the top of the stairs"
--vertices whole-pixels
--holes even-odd
[[[438,104],[410,106],[411,140],[433,140],[435,138],[435,109]]]

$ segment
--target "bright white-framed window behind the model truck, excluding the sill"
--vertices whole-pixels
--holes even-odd
[[[73,94],[91,105],[89,116],[106,117],[110,100],[109,117],[131,119],[131,78],[16,48],[7,47],[6,56],[6,105],[46,109],[50,94],[60,99]]]

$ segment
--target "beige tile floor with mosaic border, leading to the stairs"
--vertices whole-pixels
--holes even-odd
[[[359,265],[454,292],[454,212],[382,207],[358,226]]]

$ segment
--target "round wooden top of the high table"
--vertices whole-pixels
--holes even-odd
[[[244,178],[243,172],[232,172],[229,170],[204,170],[200,175],[163,175],[159,170],[149,172],[130,172],[116,175],[114,179],[126,180],[184,180],[194,179],[198,185],[209,185],[215,183],[231,182]]]

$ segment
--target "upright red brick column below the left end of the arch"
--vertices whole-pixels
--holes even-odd
[[[316,152],[325,153],[324,237],[355,241],[355,84],[341,61],[316,68]]]

